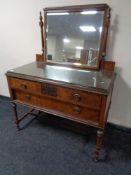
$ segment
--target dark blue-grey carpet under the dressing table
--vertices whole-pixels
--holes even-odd
[[[95,163],[93,135],[47,124],[41,117],[17,131],[12,116],[9,101],[1,98],[0,175],[131,175],[131,132],[109,125],[101,161]]]

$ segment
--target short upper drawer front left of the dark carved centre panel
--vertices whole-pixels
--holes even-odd
[[[40,83],[24,80],[24,79],[9,78],[9,86],[11,89],[19,89],[22,91],[28,91],[28,92],[34,92],[34,93],[41,92]]]

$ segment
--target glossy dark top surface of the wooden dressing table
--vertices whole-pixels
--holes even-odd
[[[87,91],[108,94],[115,79],[115,73],[105,70],[90,71],[64,66],[32,62],[6,73],[8,76],[28,80],[52,82],[62,86],[81,88]]]

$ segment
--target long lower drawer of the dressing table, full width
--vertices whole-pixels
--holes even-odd
[[[99,122],[99,110],[93,110],[55,99],[52,100],[47,97],[32,95],[22,91],[15,91],[15,99],[26,104],[43,108],[47,111],[52,111],[54,114],[66,116],[66,118],[72,120],[78,120],[84,123],[88,123],[89,121],[94,123]]]

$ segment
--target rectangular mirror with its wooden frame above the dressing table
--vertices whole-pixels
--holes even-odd
[[[106,52],[109,7],[71,6],[44,12],[46,62],[98,69]]]

